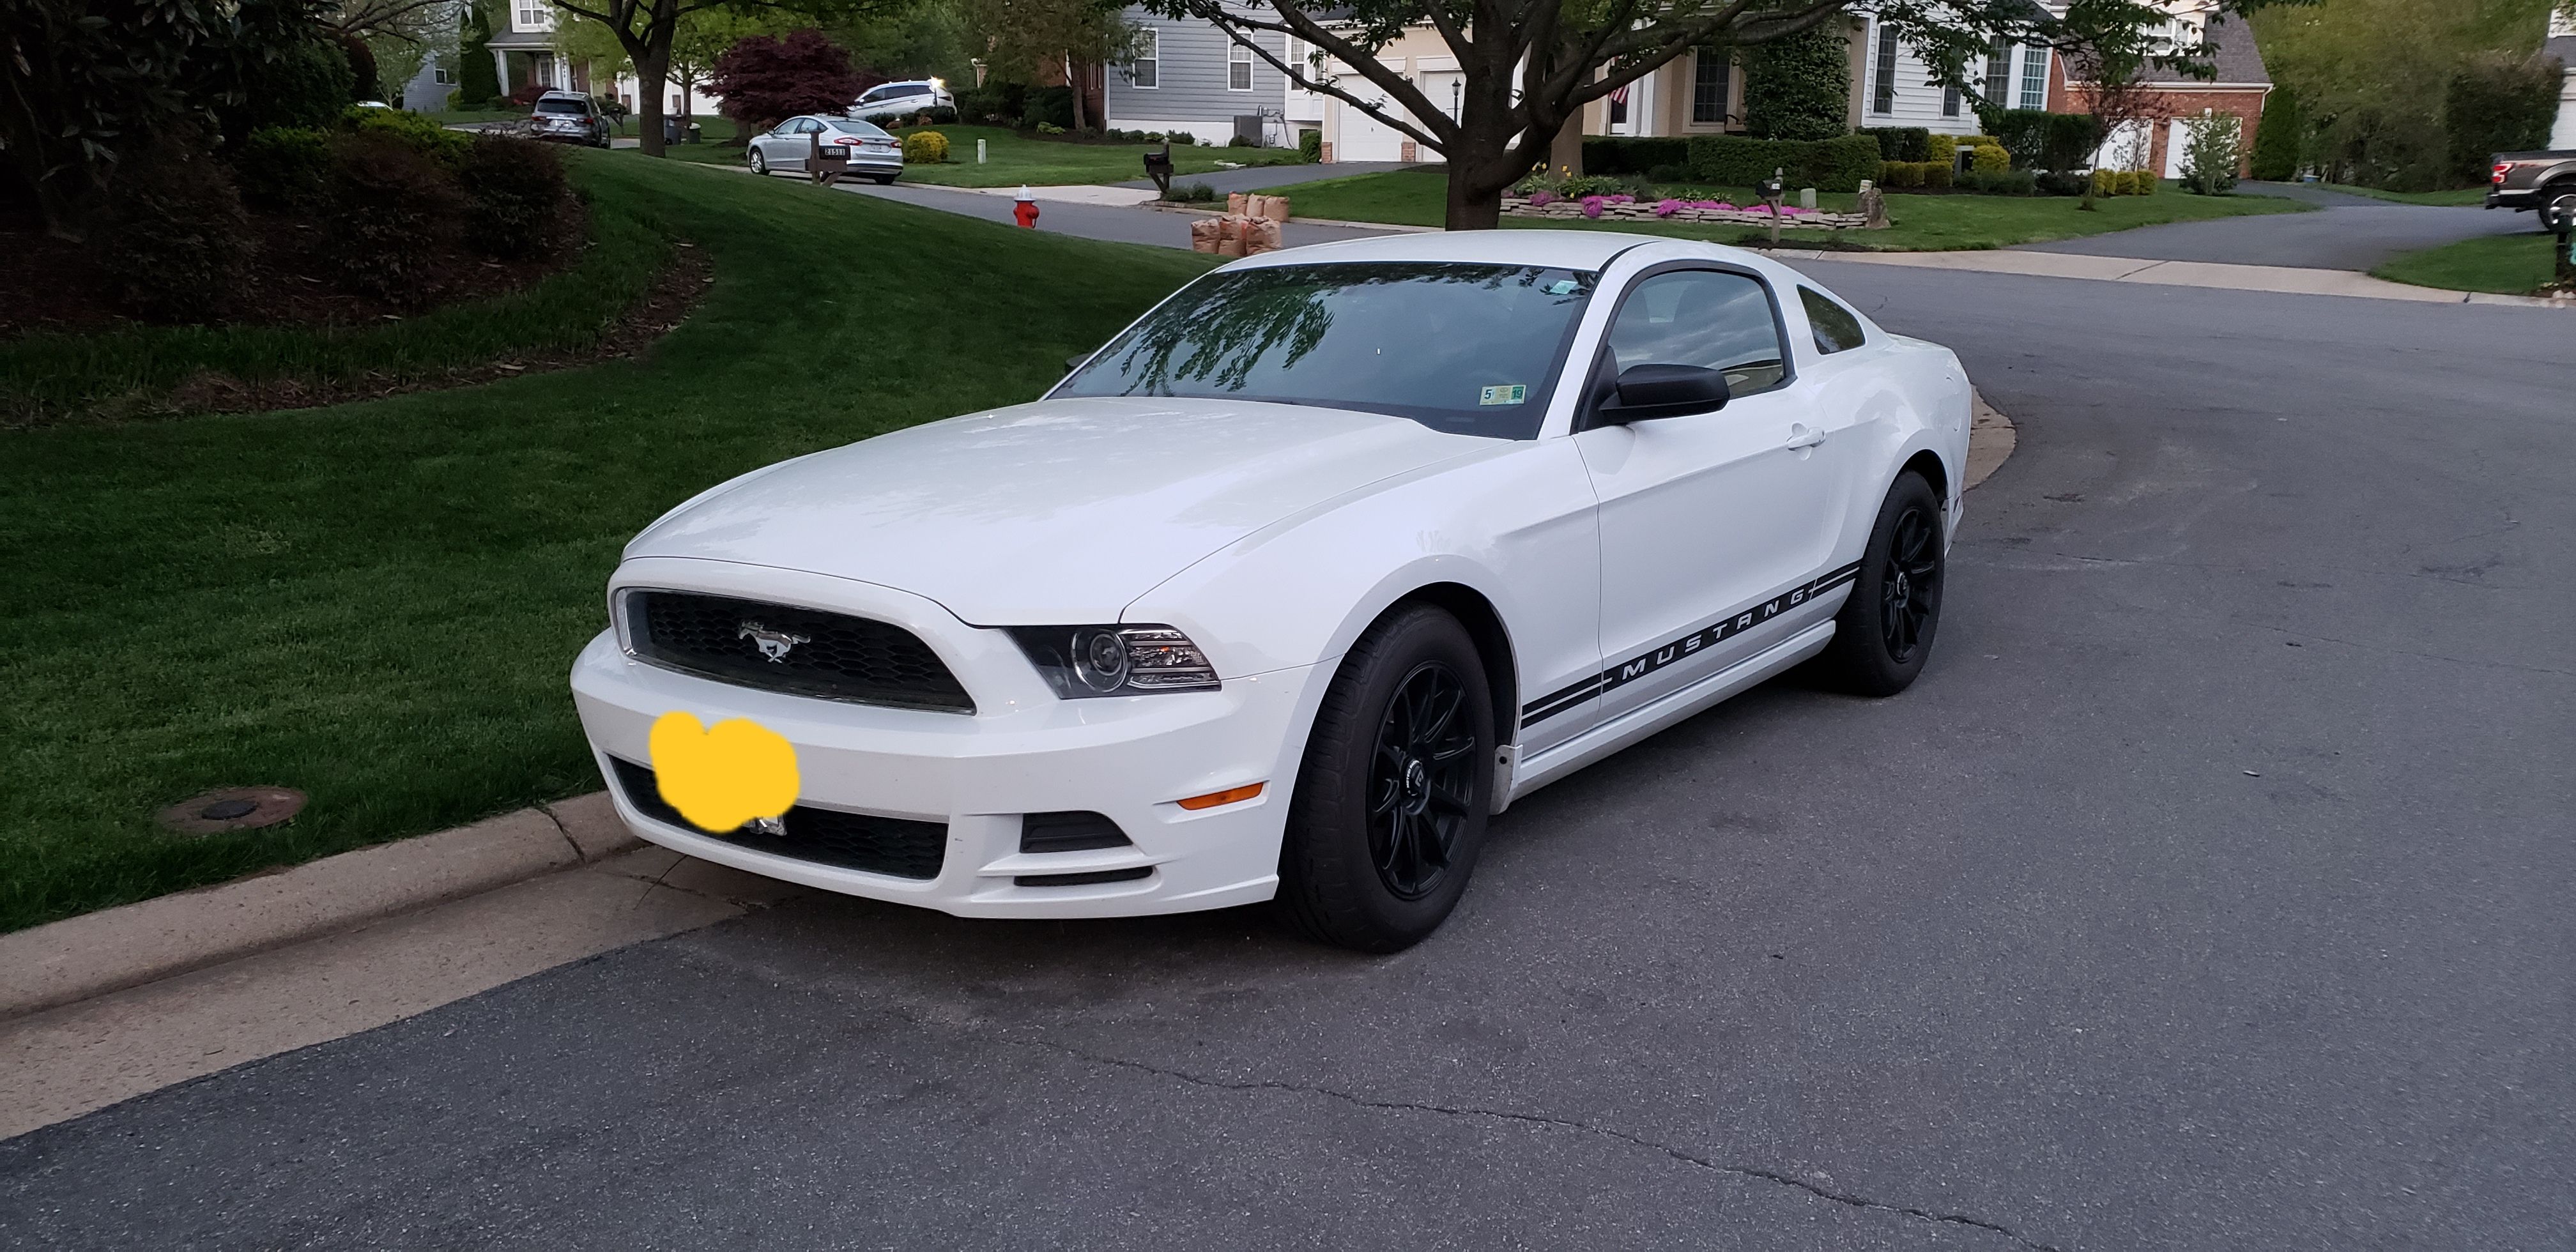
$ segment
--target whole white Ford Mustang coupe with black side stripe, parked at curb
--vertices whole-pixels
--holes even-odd
[[[1806,659],[1911,683],[1968,397],[1731,247],[1270,252],[1033,404],[675,507],[572,693],[623,819],[688,855],[969,917],[1275,896],[1394,951],[1512,799]],[[781,734],[796,804],[690,824],[670,711]]]

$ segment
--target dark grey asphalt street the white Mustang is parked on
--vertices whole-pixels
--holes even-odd
[[[1814,270],[2020,422],[1922,683],[1430,943],[804,899],[0,1144],[8,1247],[2566,1247],[2576,322]]]

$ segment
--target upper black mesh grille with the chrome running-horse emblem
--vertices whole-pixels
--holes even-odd
[[[742,688],[974,714],[974,698],[930,644],[902,626],[848,613],[631,590],[626,647],[639,659]]]

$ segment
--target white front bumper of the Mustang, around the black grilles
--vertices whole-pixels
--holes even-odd
[[[714,562],[639,559],[618,587],[683,587],[894,621],[958,675],[976,714],[935,714],[783,696],[629,657],[603,631],[572,665],[572,698],[600,775],[611,757],[649,765],[667,711],[706,724],[752,719],[796,747],[799,804],[945,822],[935,878],[896,878],[773,855],[657,822],[611,786],[644,840],[824,891],[920,904],[958,917],[1123,917],[1270,899],[1288,788],[1311,721],[1316,667],[1229,678],[1221,690],[1061,701],[997,629],[974,629],[917,595],[866,582]],[[1180,799],[1265,783],[1249,801],[1185,811]],[[1133,845],[1020,853],[1020,817],[1105,814]],[[1020,876],[1136,871],[1128,881],[1020,886]]]

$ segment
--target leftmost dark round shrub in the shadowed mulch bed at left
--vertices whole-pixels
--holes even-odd
[[[250,273],[250,214],[214,157],[162,139],[116,170],[90,247],[118,309],[204,322],[232,307]]]

